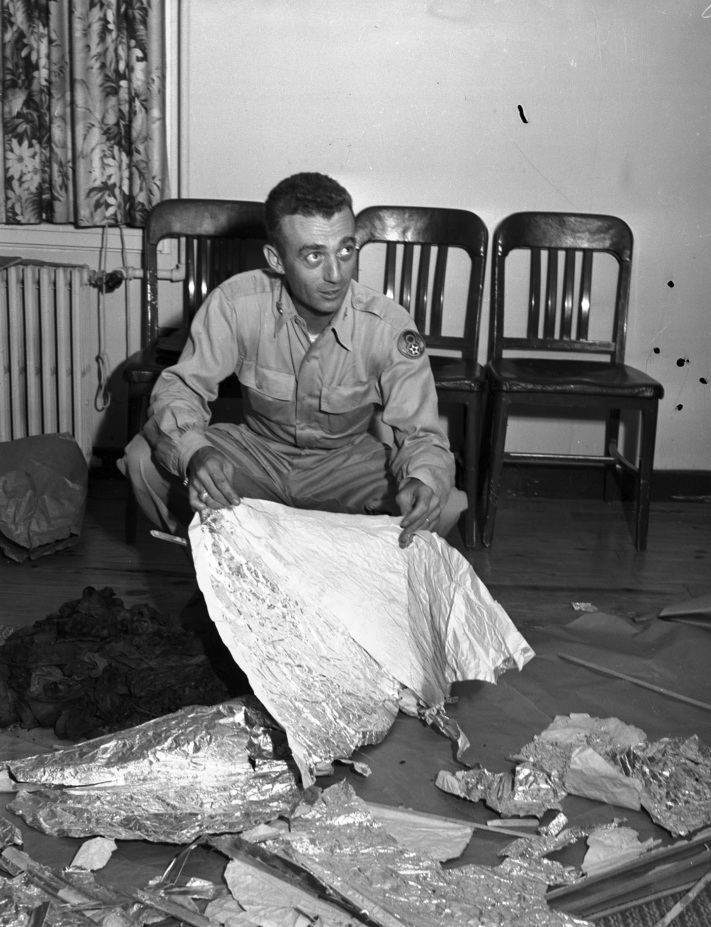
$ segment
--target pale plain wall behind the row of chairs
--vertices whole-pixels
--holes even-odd
[[[628,362],[667,391],[656,465],[711,466],[703,0],[184,3],[188,196],[261,199],[312,170],[357,210],[459,207],[490,231],[516,210],[621,216],[635,234]],[[556,425],[545,443],[593,450],[591,427]],[[540,434],[522,420],[509,446]]]

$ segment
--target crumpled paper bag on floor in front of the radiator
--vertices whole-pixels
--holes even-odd
[[[0,443],[0,550],[21,563],[75,544],[88,478],[71,435]]]

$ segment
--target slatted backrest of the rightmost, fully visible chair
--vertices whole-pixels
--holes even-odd
[[[623,362],[632,244],[632,233],[627,222],[616,216],[516,212],[504,219],[494,233],[492,245],[489,356],[500,358],[503,351],[509,349],[580,351],[586,354],[608,354],[611,360]],[[527,337],[507,337],[503,330],[505,262],[514,249],[527,249],[530,252]],[[538,306],[541,250],[546,250],[548,254],[542,334]],[[565,251],[565,266],[563,292],[558,298],[560,251]],[[577,281],[578,251],[581,252],[582,261]],[[617,281],[612,337],[590,340],[591,280],[595,252],[611,254],[616,259]],[[574,310],[577,310],[577,319],[574,319]],[[559,320],[557,324],[556,319]]]

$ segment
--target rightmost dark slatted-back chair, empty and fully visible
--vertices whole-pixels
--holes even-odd
[[[507,256],[515,248],[530,252],[526,335],[504,335],[504,276]],[[562,291],[558,292],[559,254],[565,254]],[[609,339],[590,337],[590,293],[595,252],[617,261],[616,298]],[[547,257],[545,297],[541,302],[541,255]],[[486,367],[491,403],[487,438],[489,489],[484,545],[493,539],[494,518],[504,461],[535,464],[590,464],[605,468],[605,496],[617,465],[636,476],[635,544],[644,550],[649,523],[650,486],[659,400],[664,388],[651,376],[624,363],[627,330],[632,233],[615,216],[561,212],[517,212],[504,219],[493,236],[491,256],[490,361]],[[598,330],[597,316],[595,330]],[[602,329],[601,329],[602,330]],[[602,330],[606,334],[605,330]],[[505,351],[565,352],[565,358],[504,357]],[[574,359],[582,355],[585,360]],[[607,355],[607,361],[590,360]],[[510,407],[558,406],[595,408],[607,413],[603,454],[505,452]],[[639,463],[627,460],[617,447],[621,409],[641,413]]]

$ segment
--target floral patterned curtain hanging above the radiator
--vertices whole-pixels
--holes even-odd
[[[169,196],[163,0],[1,0],[0,222],[146,224]]]

